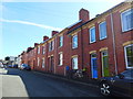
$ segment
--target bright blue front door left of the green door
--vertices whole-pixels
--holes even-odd
[[[96,57],[91,58],[92,78],[98,78],[98,64]]]

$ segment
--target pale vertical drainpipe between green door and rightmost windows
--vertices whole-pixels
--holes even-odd
[[[115,74],[117,75],[117,62],[116,62],[116,50],[115,50],[115,32],[114,32],[114,23],[113,23],[113,14],[111,12],[111,30],[113,36],[113,52],[114,52],[114,64],[115,64]]]

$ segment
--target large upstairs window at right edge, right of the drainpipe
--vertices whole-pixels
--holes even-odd
[[[121,23],[122,23],[122,32],[129,31],[133,29],[133,9],[126,10],[121,13]]]

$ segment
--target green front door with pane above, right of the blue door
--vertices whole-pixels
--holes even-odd
[[[102,52],[102,75],[103,77],[108,77],[109,75],[109,55],[108,51]]]

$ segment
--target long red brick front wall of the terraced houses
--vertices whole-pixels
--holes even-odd
[[[120,8],[121,10],[121,8]],[[124,59],[124,47],[123,43],[131,41],[131,32],[122,32],[121,28],[121,13],[120,11],[116,11],[112,14],[113,16],[113,28],[114,28],[114,38],[113,38],[113,33],[112,33],[112,25],[111,25],[111,14],[104,16],[106,21],[106,33],[108,37],[104,40],[100,40],[100,33],[99,33],[99,20],[94,21],[94,25],[96,29],[96,42],[90,44],[89,40],[89,28],[80,28],[80,31],[78,31],[78,48],[72,50],[72,35],[68,34],[68,32],[72,31],[73,29],[78,28],[81,25],[82,22],[76,23],[72,28],[65,30],[63,34],[63,46],[59,47],[59,34],[53,36],[54,40],[54,50],[49,52],[49,40],[45,42],[45,54],[42,55],[42,45],[40,44],[40,54],[38,54],[38,45],[34,46],[32,50],[34,52],[33,56],[30,56],[29,58],[27,57],[27,53],[22,55],[22,62],[28,64],[28,61],[31,62],[32,69],[35,70],[42,70],[42,72],[50,72],[50,64],[49,64],[49,56],[53,55],[53,74],[59,74],[59,75],[65,75],[65,66],[70,66],[72,68],[72,56],[78,55],[78,66],[80,69],[83,67],[88,68],[88,75],[91,78],[92,72],[91,72],[91,57],[90,53],[91,51],[96,51],[96,57],[98,57],[98,72],[99,72],[99,77],[102,77],[102,62],[101,62],[101,52],[100,50],[102,47],[108,47],[108,53],[109,53],[109,69],[110,69],[110,75],[115,72],[115,61],[114,61],[114,50],[116,52],[116,66],[117,66],[117,72],[121,73],[125,68],[125,59]],[[96,19],[95,19],[96,20]],[[74,32],[73,32],[74,33]],[[115,40],[115,48],[113,47],[113,40]],[[59,53],[63,53],[63,65],[59,66]],[[30,53],[28,53],[30,54]],[[29,56],[29,55],[28,55]],[[40,65],[38,66],[38,57],[40,58]],[[45,67],[42,68],[42,57],[44,57],[45,61]]]

